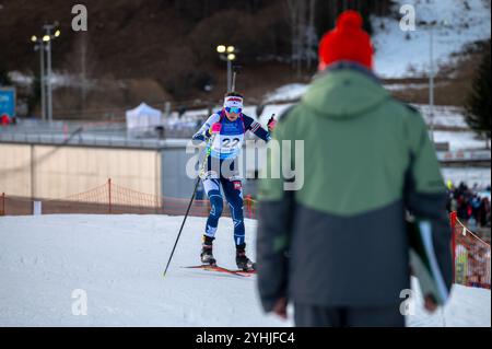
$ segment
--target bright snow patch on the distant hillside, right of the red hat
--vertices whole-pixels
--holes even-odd
[[[396,13],[401,5],[413,4],[417,24],[441,23],[434,31],[436,65],[449,62],[452,54],[461,51],[467,44],[491,36],[490,0],[397,0],[396,3]],[[402,32],[399,21],[389,18],[374,18],[373,27],[375,68],[380,77],[401,78],[427,71],[429,30],[417,25],[414,32]]]

